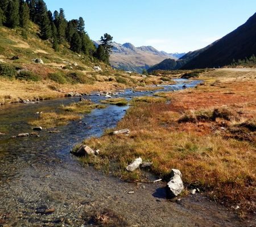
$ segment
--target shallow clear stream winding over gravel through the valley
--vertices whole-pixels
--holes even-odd
[[[175,81],[175,85],[161,85],[163,89],[156,91],[126,89],[113,98],[150,96],[201,82]],[[95,103],[106,99],[97,93],[84,98]],[[250,220],[239,220],[200,194],[188,195],[179,202],[168,201],[163,183],[126,183],[93,167],[81,166],[69,153],[73,146],[115,127],[129,106],[108,104],[80,121],[58,127],[60,133],[43,130],[40,137],[11,138],[32,132],[27,122],[35,119],[36,112],[55,110],[79,99],[0,106],[0,132],[5,133],[0,135],[0,226],[97,226],[90,216],[106,209],[125,220],[127,226],[252,226]],[[43,212],[48,209],[51,212]]]

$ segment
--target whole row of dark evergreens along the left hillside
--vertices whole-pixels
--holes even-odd
[[[96,48],[85,31],[82,17],[68,21],[63,9],[52,13],[43,0],[0,1],[0,26],[19,26],[27,30],[30,21],[38,24],[40,38],[51,41],[55,51],[59,51],[60,45],[67,42],[73,52],[94,56],[109,64],[113,37],[105,33],[101,36],[101,44]]]

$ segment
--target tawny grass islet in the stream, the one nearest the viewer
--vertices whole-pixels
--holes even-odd
[[[34,126],[40,126],[43,128],[54,128],[63,125],[67,125],[69,121],[79,120],[81,117],[71,113],[56,113],[56,112],[45,112],[41,113],[39,118],[32,120],[29,123]]]

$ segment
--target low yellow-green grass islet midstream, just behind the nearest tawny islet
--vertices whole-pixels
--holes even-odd
[[[90,113],[95,108],[102,109],[102,108],[105,108],[105,106],[100,104],[95,104],[90,100],[82,100],[81,102],[72,103],[72,104],[69,104],[68,106],[61,106],[62,110],[66,112],[72,112],[72,113]]]

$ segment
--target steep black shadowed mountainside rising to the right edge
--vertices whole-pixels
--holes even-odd
[[[182,69],[217,68],[253,54],[256,54],[256,13],[245,24],[193,57]]]

